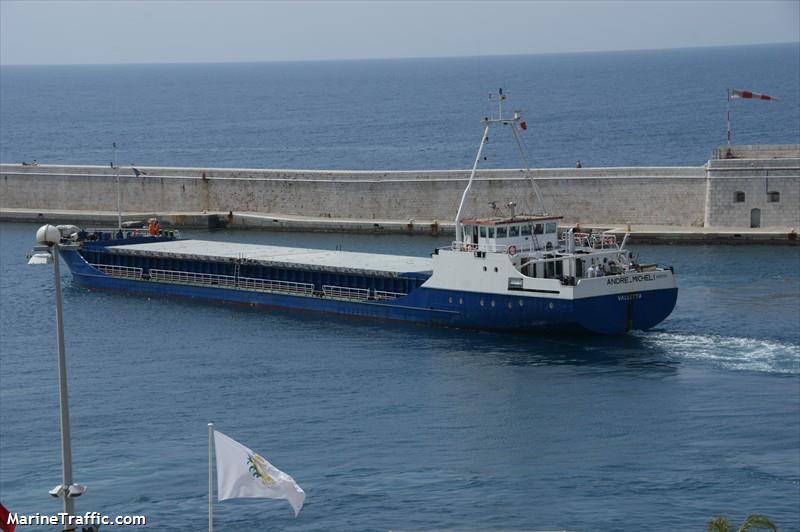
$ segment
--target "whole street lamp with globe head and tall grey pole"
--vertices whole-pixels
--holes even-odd
[[[58,391],[61,406],[61,484],[50,490],[53,497],[64,497],[64,513],[67,520],[64,529],[75,530],[70,516],[75,515],[75,497],[83,495],[86,486],[72,482],[72,447],[69,432],[69,400],[67,397],[67,360],[64,355],[64,320],[61,312],[61,272],[59,271],[59,246],[61,231],[52,225],[43,225],[36,232],[38,246],[28,255],[28,264],[53,264],[56,283],[56,333],[58,336]]]

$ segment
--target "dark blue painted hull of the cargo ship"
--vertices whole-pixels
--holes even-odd
[[[62,256],[75,282],[89,288],[470,329],[606,334],[644,330],[663,321],[677,299],[677,288],[639,292],[634,300],[619,294],[565,300],[419,287],[391,301],[348,301],[112,277],[92,268],[77,251],[65,251]]]

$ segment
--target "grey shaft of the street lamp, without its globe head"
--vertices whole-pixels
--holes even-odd
[[[72,485],[72,446],[69,431],[69,399],[67,396],[67,358],[64,353],[64,319],[61,311],[61,270],[59,269],[58,244],[53,244],[53,272],[56,283],[56,332],[58,336],[58,391],[61,406],[61,464],[64,487],[64,513],[75,515],[75,501],[69,497]],[[75,530],[65,525],[64,530]]]

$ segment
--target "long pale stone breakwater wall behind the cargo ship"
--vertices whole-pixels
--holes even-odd
[[[449,222],[467,171],[324,171],[0,165],[0,209],[272,213],[317,218]],[[800,157],[711,160],[696,167],[536,169],[550,213],[565,223],[800,226]],[[740,193],[744,193],[742,196]],[[774,193],[778,194],[775,195]],[[468,216],[492,203],[540,211],[522,170],[483,170]],[[503,212],[502,210],[500,212]]]

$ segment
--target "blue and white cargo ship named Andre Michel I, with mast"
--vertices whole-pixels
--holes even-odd
[[[469,329],[624,333],[662,322],[678,289],[671,267],[642,264],[625,239],[559,233],[544,210],[464,215],[490,127],[506,126],[529,170],[519,112],[484,118],[455,218],[456,238],[429,257],[182,239],[175,231],[61,226],[76,284],[166,297]]]

